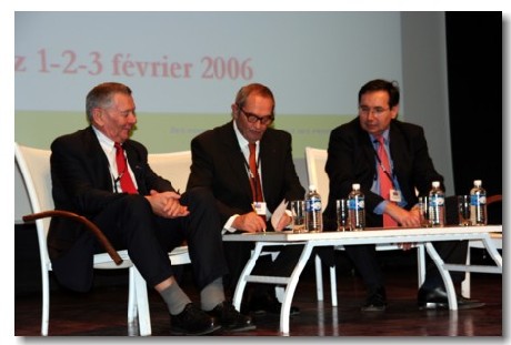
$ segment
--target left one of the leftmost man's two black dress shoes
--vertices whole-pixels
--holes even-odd
[[[170,332],[173,335],[203,335],[221,327],[213,317],[193,303],[187,304],[178,315],[170,315]]]

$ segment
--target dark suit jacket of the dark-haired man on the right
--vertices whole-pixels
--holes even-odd
[[[418,202],[415,187],[419,195],[428,195],[432,181],[440,181],[443,187],[443,176],[434,169],[421,126],[392,120],[389,138],[393,173],[407,201],[405,209],[410,210]],[[335,220],[335,200],[348,197],[353,183],[360,183],[365,195],[367,226],[382,226],[382,216],[372,210],[383,199],[370,191],[377,177],[375,152],[368,132],[360,126],[359,118],[330,133],[325,171],[330,179],[324,212],[329,227]]]

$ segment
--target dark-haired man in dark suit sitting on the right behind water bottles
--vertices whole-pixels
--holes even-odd
[[[324,212],[325,224],[335,222],[335,200],[347,197],[352,184],[359,183],[365,196],[368,227],[421,225],[415,187],[419,195],[428,195],[433,181],[439,181],[444,187],[443,177],[434,169],[422,128],[397,120],[398,112],[398,85],[385,80],[372,80],[359,91],[358,119],[330,133],[325,164],[330,194]],[[383,140],[382,149],[390,161],[388,168],[383,166],[380,158],[379,140]],[[380,185],[384,183],[382,179],[389,179],[392,186],[385,193],[380,191]],[[383,220],[387,216],[388,221]],[[403,250],[410,248],[410,244],[402,246]],[[467,242],[435,243],[435,248],[449,263],[464,263],[467,258]],[[368,291],[362,311],[384,311],[383,273],[374,245],[345,246],[345,251]],[[451,273],[451,276],[454,283],[459,283],[464,274]],[[425,281],[419,290],[418,304],[421,308],[448,307],[443,281],[432,264],[428,266]],[[458,304],[459,308],[482,305],[462,297],[459,297]]]

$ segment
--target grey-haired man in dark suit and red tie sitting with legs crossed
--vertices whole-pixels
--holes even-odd
[[[201,335],[222,326],[253,329],[251,318],[224,297],[222,276],[228,267],[214,199],[206,189],[179,195],[151,170],[147,149],[130,140],[137,123],[131,90],[120,83],[97,85],[87,95],[87,129],[51,144],[56,209],[84,215],[118,250],[128,250],[147,283],[166,302],[173,334]],[[183,240],[200,291],[200,308],[180,288],[168,256]],[[58,281],[76,291],[89,290],[92,255],[99,250],[93,236],[67,219],[54,217],[48,242]]]

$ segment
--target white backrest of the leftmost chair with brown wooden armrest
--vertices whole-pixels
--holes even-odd
[[[14,158],[27,187],[33,213],[54,209],[51,195],[50,155],[50,150],[33,149],[14,143]],[[49,226],[49,217],[36,221],[41,262],[47,265],[50,263],[46,245]]]

